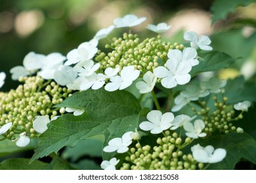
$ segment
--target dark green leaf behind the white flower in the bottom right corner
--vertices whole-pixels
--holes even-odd
[[[224,170],[234,169],[241,158],[256,163],[256,141],[247,133],[230,133],[228,135],[216,135],[206,139],[200,145],[212,145],[226,150],[226,158],[219,163],[213,163],[209,169]]]

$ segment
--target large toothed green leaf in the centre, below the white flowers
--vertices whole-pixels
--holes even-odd
[[[65,114],[51,122],[39,137],[32,161],[64,146],[74,146],[79,140],[104,134],[104,145],[126,131],[135,131],[139,124],[139,101],[125,91],[87,90],[74,93],[56,107],[83,108],[81,116]],[[104,154],[104,159],[109,154]]]

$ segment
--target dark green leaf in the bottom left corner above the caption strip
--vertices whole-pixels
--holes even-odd
[[[47,163],[36,160],[30,163],[30,159],[16,158],[7,159],[0,163],[0,170],[42,170]]]

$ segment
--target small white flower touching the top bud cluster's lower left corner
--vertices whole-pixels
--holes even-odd
[[[91,76],[95,71],[100,68],[100,63],[94,63],[92,60],[87,61],[83,67],[79,69],[75,69],[79,74],[79,76]]]

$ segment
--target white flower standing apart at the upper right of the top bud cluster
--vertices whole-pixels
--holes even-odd
[[[209,44],[211,44],[211,40],[209,37],[202,35],[198,39],[198,35],[196,32],[190,31],[184,33],[184,40],[190,41],[190,46],[192,48],[200,48],[201,50],[213,50]]]

